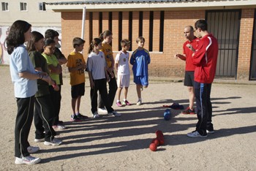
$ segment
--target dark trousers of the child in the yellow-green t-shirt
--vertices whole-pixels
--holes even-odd
[[[61,85],[59,86],[59,91],[54,91],[53,86],[49,86],[50,99],[53,102],[53,125],[59,124],[59,110],[61,109]]]

